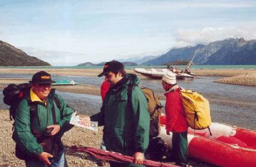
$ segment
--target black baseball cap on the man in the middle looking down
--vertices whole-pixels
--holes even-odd
[[[118,72],[118,71],[121,71],[124,69],[125,69],[125,66],[123,63],[116,61],[116,60],[112,60],[112,61],[105,63],[105,65],[103,67],[103,72],[100,73],[98,75],[98,77],[106,75],[109,72]]]

